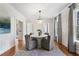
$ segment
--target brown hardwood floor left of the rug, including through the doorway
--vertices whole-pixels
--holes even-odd
[[[24,48],[24,42],[23,40],[18,40],[18,49],[23,49]],[[4,52],[0,56],[13,56],[16,53],[16,46],[10,48],[8,51]]]

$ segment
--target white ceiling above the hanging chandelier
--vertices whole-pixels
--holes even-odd
[[[42,10],[41,18],[54,17],[68,3],[11,3],[27,19],[38,19],[38,10]]]

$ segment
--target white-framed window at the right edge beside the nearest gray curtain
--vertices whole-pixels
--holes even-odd
[[[79,40],[79,9],[73,11],[73,37],[74,41]]]

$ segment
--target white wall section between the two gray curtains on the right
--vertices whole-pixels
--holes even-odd
[[[65,8],[62,13],[62,44],[68,47],[68,16],[69,8]]]

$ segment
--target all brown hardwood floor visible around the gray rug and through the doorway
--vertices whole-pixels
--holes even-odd
[[[66,56],[79,56],[78,54],[76,53],[71,53],[68,51],[67,47],[65,47],[64,45],[62,44],[59,44],[55,41],[55,45],[57,45],[59,47],[59,49],[66,55]],[[23,45],[23,41],[19,41],[19,44],[18,44],[18,47],[19,49],[22,49],[24,47]],[[5,53],[3,53],[2,55],[0,56],[13,56],[14,54],[16,53],[16,50],[15,50],[15,46],[12,47],[11,49],[9,49],[8,51],[6,51]]]

